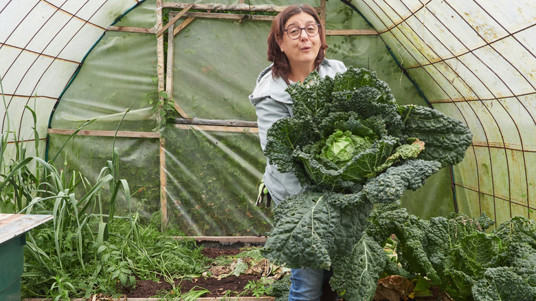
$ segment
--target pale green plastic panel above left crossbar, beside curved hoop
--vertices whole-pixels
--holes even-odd
[[[56,107],[54,129],[153,131],[157,86],[156,38],[153,34],[107,32],[89,53],[83,67]],[[152,105],[150,104],[152,103]]]

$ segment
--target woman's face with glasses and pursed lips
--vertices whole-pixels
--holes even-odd
[[[295,14],[289,18],[287,23],[284,23],[284,29],[291,27],[306,27],[310,24],[316,24],[315,18],[306,12]],[[282,52],[287,55],[291,69],[300,65],[312,64],[314,69],[315,58],[320,51],[320,33],[315,36],[308,36],[305,30],[302,30],[300,36],[295,40],[289,38],[287,32],[283,32],[282,40],[280,41]],[[312,71],[312,70],[311,70]]]

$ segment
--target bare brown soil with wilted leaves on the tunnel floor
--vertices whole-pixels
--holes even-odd
[[[198,300],[198,301],[273,301],[275,298],[266,296],[267,283],[282,279],[289,274],[289,269],[281,269],[270,265],[267,259],[258,258],[258,248],[264,238],[254,238],[254,242],[241,238],[226,238],[225,242],[214,239],[196,238],[202,245],[202,254],[212,258],[214,262],[205,267],[206,272],[197,277],[159,278],[159,280],[137,280],[133,289],[123,288],[120,296],[91,296],[89,299],[74,298],[72,301],[153,301],[153,300]],[[260,241],[259,241],[260,240]],[[245,255],[246,254],[246,255]],[[252,257],[247,256],[251,254]],[[238,263],[247,269],[237,271]],[[236,275],[235,275],[236,274]],[[249,287],[247,287],[249,285]],[[201,293],[204,291],[204,293]],[[438,289],[433,289],[433,296],[407,298],[413,291],[412,283],[399,276],[380,280],[377,298],[373,301],[399,300],[440,300],[449,301],[440,296]],[[199,292],[199,296],[188,298],[184,294]],[[190,295],[192,296],[192,295]],[[45,301],[50,299],[27,298],[24,301]]]

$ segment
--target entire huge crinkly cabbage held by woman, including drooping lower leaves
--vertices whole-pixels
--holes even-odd
[[[366,69],[335,78],[313,72],[287,91],[293,117],[271,126],[265,155],[307,192],[278,205],[263,254],[287,267],[333,268],[340,296],[370,300],[386,265],[364,233],[372,204],[397,201],[459,163],[472,135],[434,109],[399,106]]]

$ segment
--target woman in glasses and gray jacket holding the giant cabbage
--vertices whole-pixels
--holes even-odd
[[[292,100],[285,91],[287,85],[303,82],[313,70],[317,70],[322,78],[333,78],[338,72],[346,71],[342,62],[324,58],[324,50],[328,46],[322,31],[317,12],[305,4],[291,5],[273,20],[268,36],[268,60],[272,65],[260,73],[249,96],[249,101],[255,106],[263,150],[267,130],[273,122],[293,116]],[[263,180],[276,205],[306,189],[300,186],[293,172],[281,173],[269,162]],[[291,274],[289,301],[320,300],[328,271],[307,267],[292,269]],[[336,294],[332,296],[332,300],[337,298]]]

